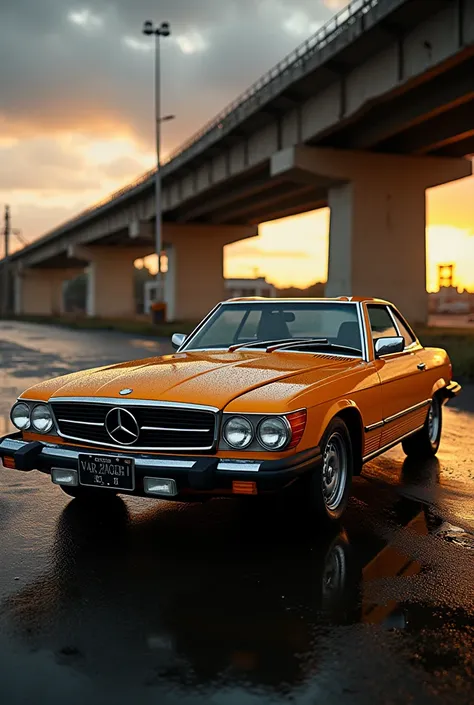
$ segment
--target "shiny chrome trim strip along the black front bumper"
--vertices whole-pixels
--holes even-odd
[[[23,448],[23,446],[25,445],[28,445],[28,441],[20,441],[13,438],[4,438],[3,441],[0,442],[0,448],[13,452],[16,450],[20,450],[20,448]],[[101,452],[100,450],[94,448],[84,448],[84,450],[80,451],[70,450],[68,448],[63,448],[59,445],[54,445],[53,443],[45,443],[41,451],[41,455],[48,456],[49,458],[69,458],[72,460],[77,460],[79,453],[93,453],[95,451],[97,451],[98,454],[100,454]],[[120,455],[127,456],[127,453],[122,452]],[[187,460],[185,458],[183,458],[182,460],[177,460],[174,458],[170,458],[169,460],[167,460],[166,458],[143,458],[140,456],[130,455],[128,455],[127,457],[134,457],[137,466],[143,468],[149,467],[190,469],[193,468],[198,462],[197,460]],[[261,463],[258,461],[234,460],[229,458],[220,460],[217,465],[217,469],[230,470],[232,472],[258,472],[260,469],[260,465]]]

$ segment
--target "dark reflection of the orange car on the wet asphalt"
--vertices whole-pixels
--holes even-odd
[[[427,533],[419,503],[401,499],[397,511]],[[100,513],[75,500],[58,522],[50,574],[1,616],[29,649],[115,686],[294,688],[314,674],[328,628],[404,624],[365,585],[420,565],[353,514],[320,534],[277,505],[247,512],[216,500],[132,519],[120,499]]]

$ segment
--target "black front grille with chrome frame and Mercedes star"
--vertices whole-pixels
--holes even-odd
[[[199,407],[192,408],[192,405],[126,404],[118,400],[110,403],[51,400],[50,403],[59,434],[90,445],[130,450],[194,451],[210,450],[216,441],[217,414]],[[138,428],[137,438],[131,434],[115,434],[120,439],[117,442],[110,436],[107,414],[112,409],[133,415]]]

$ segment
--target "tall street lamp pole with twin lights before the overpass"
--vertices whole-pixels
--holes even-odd
[[[158,256],[158,271],[156,273],[157,300],[164,299],[163,278],[161,271],[161,253],[163,250],[163,226],[161,207],[161,123],[172,120],[174,115],[161,116],[161,70],[160,70],[160,38],[171,34],[168,22],[155,26],[153,22],[145,22],[143,34],[155,35],[155,123],[156,123],[156,178],[155,178],[155,249]]]

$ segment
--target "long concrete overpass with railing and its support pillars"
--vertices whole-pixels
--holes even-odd
[[[170,319],[224,298],[223,248],[329,206],[327,294],[425,320],[425,191],[472,173],[474,0],[355,0],[162,168]],[[154,172],[11,257],[15,311],[61,308],[90,267],[88,313],[134,313],[154,252]]]

